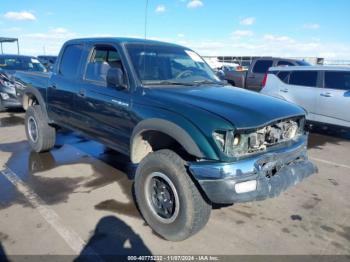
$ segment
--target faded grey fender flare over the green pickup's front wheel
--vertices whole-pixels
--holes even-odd
[[[162,132],[176,140],[190,155],[199,158],[204,157],[198,145],[183,128],[168,120],[160,118],[150,118],[139,122],[132,132],[130,139],[130,158],[133,163],[137,162],[134,159],[134,142],[136,141],[135,138],[137,138],[145,131]]]

